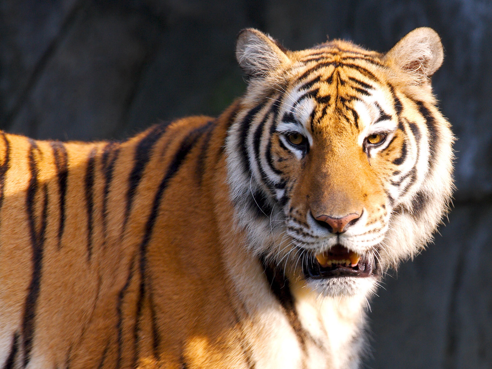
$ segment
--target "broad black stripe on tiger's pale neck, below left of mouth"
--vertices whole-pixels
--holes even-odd
[[[302,328],[301,321],[297,315],[294,305],[294,298],[290,292],[289,279],[285,277],[285,273],[277,265],[272,265],[265,256],[260,256],[260,262],[263,271],[267,278],[268,288],[277,297],[280,306],[282,307],[287,319],[299,339],[299,344],[302,351],[306,352],[306,333]]]

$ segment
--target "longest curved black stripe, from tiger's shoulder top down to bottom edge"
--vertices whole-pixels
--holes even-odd
[[[199,127],[197,129],[191,131],[184,138],[184,140],[181,143],[179,150],[176,152],[173,160],[169,164],[166,175],[162,178],[162,181],[159,184],[159,187],[157,188],[157,191],[155,193],[154,203],[152,206],[151,214],[149,215],[149,218],[147,219],[147,223],[145,226],[145,234],[144,234],[142,243],[140,244],[140,268],[139,268],[139,272],[140,272],[140,295],[139,295],[138,302],[137,302],[137,314],[136,314],[137,324],[135,324],[135,331],[133,333],[135,342],[138,342],[138,330],[139,330],[138,322],[140,321],[140,317],[142,315],[142,307],[143,307],[143,302],[144,302],[144,297],[145,297],[145,277],[146,277],[145,270],[147,268],[147,246],[150,242],[152,232],[154,230],[154,224],[155,224],[155,220],[157,218],[157,214],[159,211],[160,201],[162,199],[162,195],[163,195],[164,190],[166,189],[169,181],[178,172],[184,158],[189,153],[189,151],[193,148],[196,141],[201,137],[201,135],[206,130],[206,128],[207,128],[207,125]],[[150,303],[152,304],[152,301]],[[136,363],[137,363],[137,357],[138,357],[137,354],[138,354],[137,350],[135,350],[134,366],[136,366]]]

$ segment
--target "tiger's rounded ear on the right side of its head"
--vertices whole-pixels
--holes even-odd
[[[444,52],[436,31],[417,28],[403,37],[384,59],[410,73],[417,84],[425,83],[442,64]]]

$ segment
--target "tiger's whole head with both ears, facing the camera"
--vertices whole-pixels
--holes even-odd
[[[250,251],[324,296],[367,294],[430,240],[452,193],[449,123],[431,75],[439,36],[386,54],[334,40],[298,52],[238,36],[248,89],[226,142]]]

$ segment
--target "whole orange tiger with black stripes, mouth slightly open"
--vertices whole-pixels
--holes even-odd
[[[355,369],[385,273],[449,210],[439,36],[290,51],[243,97],[124,141],[0,134],[0,367]]]

